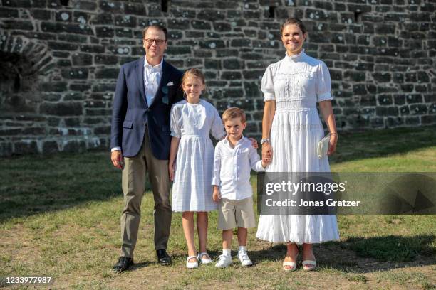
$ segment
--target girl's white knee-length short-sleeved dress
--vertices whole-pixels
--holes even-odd
[[[175,179],[172,184],[172,210],[216,210],[212,200],[212,171],[215,139],[226,135],[217,109],[207,101],[177,102],[171,109],[171,136],[180,138]]]

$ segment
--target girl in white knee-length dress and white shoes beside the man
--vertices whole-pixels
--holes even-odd
[[[177,102],[171,109],[171,149],[169,161],[172,185],[172,210],[182,212],[183,232],[188,247],[186,267],[197,268],[212,263],[206,252],[207,212],[216,210],[212,200],[212,170],[215,139],[224,138],[226,132],[217,109],[200,100],[204,90],[204,75],[200,70],[187,70],[182,78],[186,100]],[[177,160],[176,160],[177,156]],[[199,252],[194,243],[194,213],[197,212]]]

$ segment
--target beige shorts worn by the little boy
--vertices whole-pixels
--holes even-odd
[[[218,205],[218,228],[230,230],[235,227],[256,227],[253,198],[229,200],[222,198]]]

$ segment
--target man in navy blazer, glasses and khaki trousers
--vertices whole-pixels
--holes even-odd
[[[142,32],[145,58],[120,69],[113,100],[110,136],[113,166],[123,170],[124,208],[121,215],[123,245],[114,265],[122,272],[133,264],[140,224],[140,206],[148,173],[155,200],[155,249],[160,264],[170,264],[167,242],[171,226],[170,110],[182,100],[182,72],[163,59],[167,29],[152,25]]]

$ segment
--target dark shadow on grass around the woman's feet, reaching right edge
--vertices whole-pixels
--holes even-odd
[[[410,266],[436,264],[435,235],[410,237],[348,237],[341,242],[314,245],[318,269],[338,269],[343,272],[377,272]],[[300,246],[300,267],[301,267]],[[266,250],[250,251],[254,264],[261,261],[282,261],[286,245],[274,245]]]

